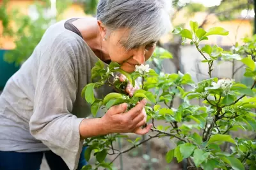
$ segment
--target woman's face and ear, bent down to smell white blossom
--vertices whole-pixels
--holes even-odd
[[[156,42],[134,46],[127,50],[124,46],[127,40],[127,34],[127,29],[118,29],[111,32],[104,42],[106,42],[111,61],[118,62],[124,71],[131,73],[134,71],[136,65],[144,64],[151,57],[156,48]]]

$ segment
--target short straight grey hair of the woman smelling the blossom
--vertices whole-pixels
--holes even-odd
[[[168,3],[169,2],[169,3]],[[97,20],[108,29],[129,29],[126,49],[158,41],[170,31],[171,0],[100,0]]]

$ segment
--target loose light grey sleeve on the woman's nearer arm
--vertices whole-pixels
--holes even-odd
[[[79,133],[83,118],[71,113],[77,95],[76,54],[72,45],[63,41],[40,56],[29,129],[31,135],[59,155],[69,169],[77,169],[83,147]]]

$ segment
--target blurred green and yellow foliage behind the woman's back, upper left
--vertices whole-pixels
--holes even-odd
[[[61,17],[61,13],[67,8],[70,2],[70,0],[56,1],[58,11],[56,17],[45,17],[44,10],[49,9],[49,1],[45,1],[45,3],[35,2],[34,5],[38,12],[38,17],[35,20],[28,15],[20,13],[19,9],[15,9],[8,14],[6,13],[8,17],[5,17],[4,20],[12,20],[15,23],[15,27],[12,28],[10,27],[10,22],[5,26],[8,27],[6,34],[8,33],[8,36],[15,39],[15,49],[6,52],[4,54],[4,60],[10,63],[14,62],[16,66],[20,66],[22,62],[28,59],[35,50],[36,45],[40,42],[46,29],[55,22],[56,19]]]

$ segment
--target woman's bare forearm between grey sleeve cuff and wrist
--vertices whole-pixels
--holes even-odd
[[[79,125],[79,132],[81,138],[92,138],[109,133],[101,118],[84,118]]]

